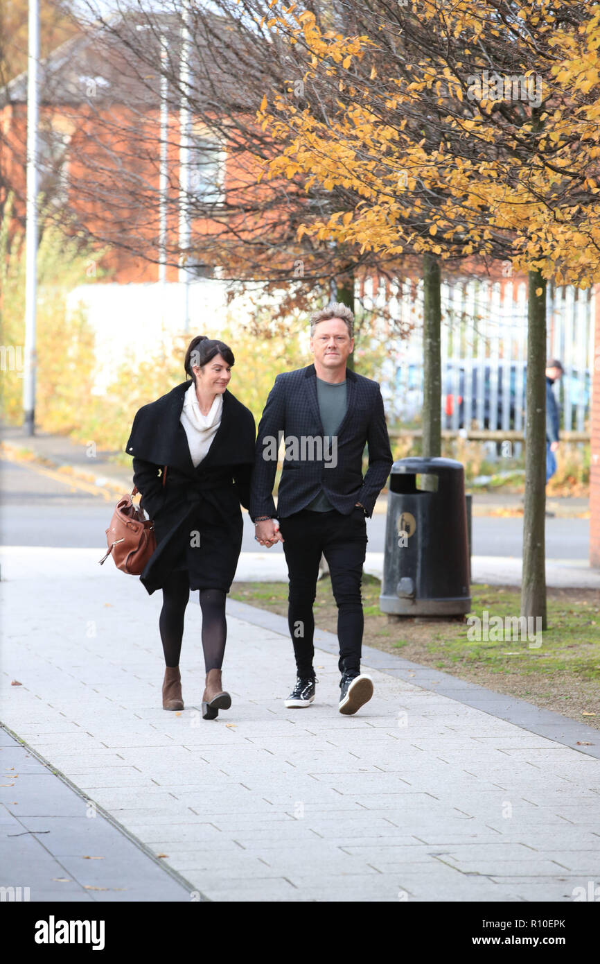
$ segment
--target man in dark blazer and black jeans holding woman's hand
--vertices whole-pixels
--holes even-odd
[[[354,347],[353,322],[345,305],[315,311],[314,363],[275,378],[258,426],[249,506],[257,541],[268,548],[282,542],[288,565],[288,625],[298,678],[286,707],[308,707],[315,698],[313,603],[321,555],[326,557],[338,607],[342,713],[356,712],[373,695],[371,678],[360,672],[365,517],[371,516],[393,463],[378,384],[346,367]],[[281,437],[285,458],[275,513]],[[369,468],[363,478],[365,444]]]

